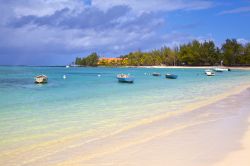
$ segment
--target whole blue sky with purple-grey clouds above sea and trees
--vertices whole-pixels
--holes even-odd
[[[250,41],[250,0],[0,0],[0,65]]]

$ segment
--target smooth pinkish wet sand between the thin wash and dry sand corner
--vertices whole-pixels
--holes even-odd
[[[249,86],[223,97],[189,107],[177,116],[144,121],[144,124],[105,138],[101,148],[87,153],[81,151],[57,165],[210,166],[240,148],[239,140],[246,132],[249,117]],[[175,124],[176,121],[180,123]],[[185,148],[179,147],[180,144]],[[171,154],[173,149],[174,156],[163,155]],[[183,155],[181,161],[179,154]]]

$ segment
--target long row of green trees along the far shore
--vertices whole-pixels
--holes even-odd
[[[243,45],[235,39],[227,39],[219,48],[213,41],[194,40],[174,49],[162,47],[149,52],[131,52],[118,60],[99,60],[99,56],[92,53],[86,58],[76,58],[75,63],[82,66],[211,66],[221,61],[227,66],[250,65],[250,43]]]

